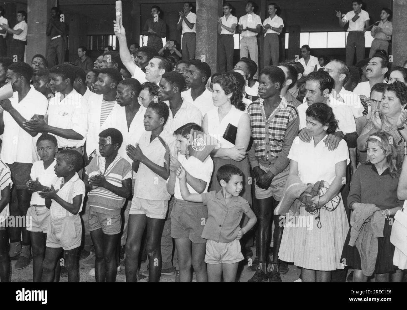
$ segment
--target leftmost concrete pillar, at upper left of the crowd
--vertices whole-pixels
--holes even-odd
[[[26,62],[31,63],[35,54],[46,57],[50,38],[46,35],[47,22],[50,19],[51,8],[55,0],[27,0],[28,30],[27,30],[27,57]]]

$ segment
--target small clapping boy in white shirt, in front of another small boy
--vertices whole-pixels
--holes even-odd
[[[68,282],[79,282],[78,250],[82,241],[82,210],[85,184],[77,171],[82,166],[82,155],[74,150],[62,150],[54,166],[58,179],[51,188],[39,192],[50,208],[45,258],[42,264],[42,282],[52,282],[61,251],[64,251]]]

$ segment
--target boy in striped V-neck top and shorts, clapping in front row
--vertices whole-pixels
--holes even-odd
[[[118,155],[123,135],[115,128],[99,133],[100,156],[85,168],[89,230],[95,248],[96,282],[115,282],[116,249],[120,240],[121,209],[131,195],[130,163]]]

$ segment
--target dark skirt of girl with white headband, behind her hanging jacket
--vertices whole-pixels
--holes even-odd
[[[392,217],[390,217],[392,218]],[[394,218],[392,218],[394,221]],[[388,273],[395,270],[393,265],[394,245],[390,242],[390,235],[392,234],[392,225],[389,225],[389,220],[385,220],[383,228],[383,237],[377,238],[377,258],[374,267],[374,273]],[[350,229],[348,236],[346,236],[344,251],[342,252],[341,262],[354,269],[362,270],[359,251],[356,246],[349,245]],[[402,269],[402,268],[400,268]]]

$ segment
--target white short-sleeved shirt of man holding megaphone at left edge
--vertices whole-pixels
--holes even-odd
[[[13,93],[10,98],[11,105],[26,120],[30,120],[35,114],[45,115],[47,111],[47,98],[37,92],[34,87],[27,95],[18,102],[18,92]],[[37,148],[35,143],[37,137],[32,137],[26,132],[7,111],[3,111],[4,134],[1,150],[1,158],[6,164],[13,162],[32,164],[37,160]]]

